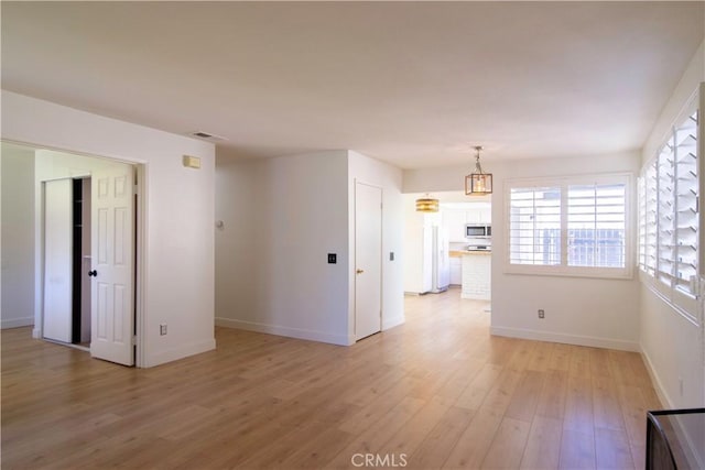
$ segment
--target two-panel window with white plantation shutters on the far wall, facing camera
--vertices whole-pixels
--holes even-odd
[[[507,272],[630,277],[630,182],[623,174],[507,182]]]

